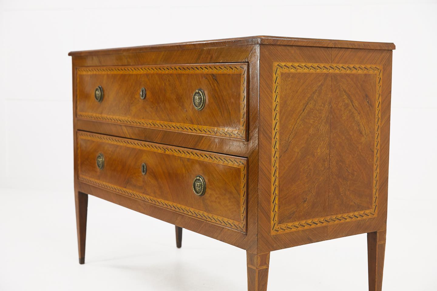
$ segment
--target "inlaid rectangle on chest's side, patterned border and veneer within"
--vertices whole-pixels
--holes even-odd
[[[274,63],[271,233],[377,215],[382,68]]]

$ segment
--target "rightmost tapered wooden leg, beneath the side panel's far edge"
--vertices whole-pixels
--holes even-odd
[[[381,291],[384,269],[385,230],[367,234],[369,291]]]

